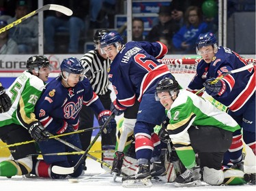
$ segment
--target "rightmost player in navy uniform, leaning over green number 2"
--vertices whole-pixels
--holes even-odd
[[[229,48],[218,47],[213,33],[199,35],[197,54],[203,59],[197,65],[197,74],[188,85],[188,90],[197,92],[205,86],[210,96],[226,105],[228,114],[242,127],[244,142],[255,154],[255,68],[226,75],[212,83],[221,74],[248,63]],[[242,133],[239,129],[233,133],[232,145],[225,154],[223,164],[227,165],[230,158],[233,168],[242,169],[242,147]]]

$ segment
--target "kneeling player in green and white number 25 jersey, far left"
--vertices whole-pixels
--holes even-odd
[[[45,56],[31,56],[26,67],[27,70],[16,78],[7,91],[12,107],[0,114],[0,139],[7,144],[48,139],[48,133],[35,118],[34,107],[48,81],[51,65]],[[13,159],[0,162],[0,175],[12,177],[30,173],[32,158],[28,155],[36,153],[35,145],[29,143],[9,147],[9,150]]]

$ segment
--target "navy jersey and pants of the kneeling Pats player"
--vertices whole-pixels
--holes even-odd
[[[78,82],[73,88],[65,88],[61,84],[61,76],[59,76],[46,85],[46,89],[35,106],[35,116],[46,128],[46,131],[53,135],[68,133],[77,130],[79,126],[79,111],[82,105],[92,107],[96,114],[104,111],[100,99],[92,90],[87,78]],[[82,149],[78,134],[63,136],[61,139]],[[74,151],[55,139],[40,141],[38,144],[43,154]],[[80,158],[81,156],[79,155],[44,156],[44,161],[46,164],[73,167]],[[72,176],[77,177],[81,175],[82,171],[83,167],[79,167]],[[53,176],[51,175],[51,177]]]

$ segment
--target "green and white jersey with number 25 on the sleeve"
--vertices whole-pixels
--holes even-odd
[[[8,124],[29,128],[29,124],[36,120],[33,111],[43,89],[44,82],[28,71],[17,77],[8,88],[7,93],[12,100],[12,107],[8,112],[0,114],[0,128]]]

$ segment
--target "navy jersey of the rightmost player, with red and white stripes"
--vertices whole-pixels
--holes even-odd
[[[211,77],[218,77],[222,73],[238,69],[248,65],[246,60],[229,48],[218,47],[210,64],[201,60],[197,65],[197,73],[192,82],[188,85],[188,90],[197,92],[203,88],[203,83]],[[238,111],[255,93],[255,68],[251,68],[238,73],[233,73],[223,77],[226,90],[221,96],[213,98],[223,103],[231,111]]]

